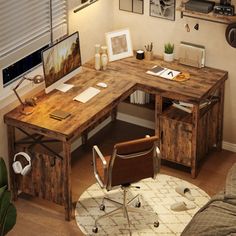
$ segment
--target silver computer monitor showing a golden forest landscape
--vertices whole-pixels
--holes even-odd
[[[75,32],[42,51],[45,91],[57,89],[81,71],[79,33]]]

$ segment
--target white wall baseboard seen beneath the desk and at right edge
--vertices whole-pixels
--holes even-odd
[[[145,120],[142,118],[138,118],[135,116],[127,115],[124,113],[118,112],[117,119],[121,121],[125,121],[131,124],[143,126],[145,128],[154,129],[155,123],[153,121]],[[89,132],[88,138],[91,138],[93,135],[95,135],[97,132],[99,132],[102,128],[104,128],[107,124],[111,122],[111,118],[108,117],[106,120],[104,120],[101,124],[99,124],[96,128],[94,128],[92,131]],[[77,139],[71,146],[72,152],[77,149],[82,144],[81,138]],[[229,143],[223,141],[223,149],[231,152],[236,152],[236,144]]]

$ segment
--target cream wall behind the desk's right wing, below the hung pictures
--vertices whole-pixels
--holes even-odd
[[[232,1],[232,4],[235,3]],[[153,42],[154,53],[162,55],[164,43],[170,41],[175,44],[177,57],[180,41],[202,44],[206,47],[206,65],[229,72],[225,89],[223,139],[236,145],[236,48],[230,47],[225,40],[226,25],[198,19],[181,19],[179,12],[176,12],[175,21],[151,17],[148,0],[144,0],[144,15],[120,11],[119,0],[114,0],[113,7],[113,29],[129,27],[134,49],[144,49],[145,44]],[[186,23],[190,26],[189,33],[184,27]],[[198,31],[193,29],[196,23],[200,26]]]

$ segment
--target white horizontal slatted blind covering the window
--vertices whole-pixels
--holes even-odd
[[[51,16],[54,39],[65,35],[66,0],[0,0],[0,58],[24,57],[50,43]]]

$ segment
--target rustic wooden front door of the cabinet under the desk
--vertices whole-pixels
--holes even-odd
[[[192,125],[160,117],[162,159],[191,166]]]

